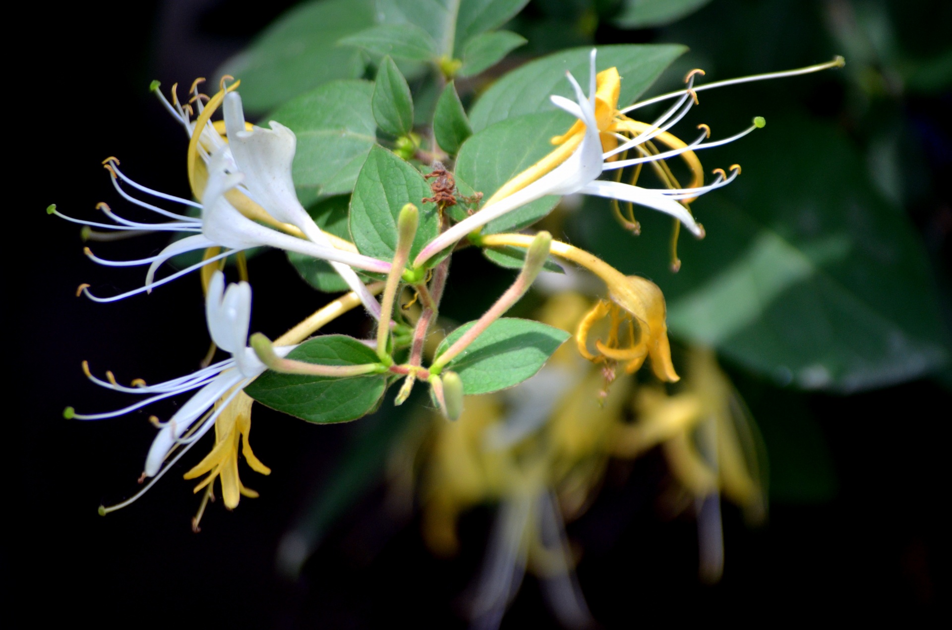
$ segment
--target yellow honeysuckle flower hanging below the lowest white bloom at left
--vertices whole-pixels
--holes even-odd
[[[251,444],[248,443],[253,402],[245,392],[239,392],[234,400],[228,403],[215,421],[215,445],[211,452],[184,475],[185,479],[196,479],[208,473],[208,477],[195,486],[195,492],[218,478],[222,484],[222,499],[229,510],[238,506],[242,495],[252,499],[258,497],[258,493],[245,487],[238,477],[239,443],[242,445],[245,461],[252,470],[262,475],[271,474],[271,469],[255,457]],[[221,404],[221,401],[218,404]]]

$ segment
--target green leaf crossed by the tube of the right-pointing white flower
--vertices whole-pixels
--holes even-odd
[[[572,117],[564,111],[546,111],[511,118],[485,128],[466,140],[456,158],[456,177],[487,200],[514,175],[531,167],[554,148],[552,136],[560,135],[572,125]],[[484,234],[506,232],[529,226],[559,202],[548,195],[490,221]]]

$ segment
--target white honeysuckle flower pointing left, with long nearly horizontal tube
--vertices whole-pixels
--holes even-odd
[[[83,293],[96,302],[114,302],[116,300],[127,298],[131,295],[150,291],[155,286],[164,285],[194,269],[208,265],[222,258],[226,258],[237,251],[259,246],[272,246],[280,249],[286,249],[288,251],[295,251],[307,256],[312,256],[314,258],[327,260],[329,262],[343,263],[348,266],[354,266],[360,269],[375,271],[378,273],[387,273],[390,269],[390,264],[386,261],[377,260],[375,258],[345,251],[343,249],[337,249],[332,246],[319,245],[306,239],[297,238],[295,236],[285,234],[284,232],[279,232],[270,227],[262,226],[251,219],[248,219],[248,217],[243,215],[237,208],[233,207],[226,198],[226,194],[229,190],[238,187],[245,180],[244,173],[238,171],[231,152],[227,146],[218,148],[209,157],[208,183],[205,187],[202,204],[196,204],[185,199],[179,199],[171,195],[159,193],[137,184],[130,184],[131,186],[143,192],[147,192],[161,199],[175,201],[192,207],[201,207],[202,216],[200,218],[176,215],[175,213],[164,210],[163,208],[155,207],[151,204],[135,199],[126,193],[126,191],[123,190],[123,188],[119,185],[120,180],[130,183],[129,178],[122,174],[122,171],[119,170],[115,163],[111,163],[110,167],[110,169],[115,173],[113,184],[116,189],[120,190],[126,199],[129,199],[140,207],[145,207],[146,209],[162,214],[163,216],[177,217],[177,219],[172,222],[157,224],[129,221],[113,213],[111,209],[105,204],[100,204],[99,208],[102,209],[110,219],[114,220],[116,225],[73,219],[58,212],[54,206],[49,207],[47,211],[50,212],[50,214],[56,214],[57,216],[68,221],[85,226],[105,227],[118,230],[148,229],[151,231],[193,232],[193,235],[171,243],[155,256],[132,261],[104,260],[94,256],[92,252],[89,251],[89,248],[87,248],[86,253],[89,258],[101,265],[149,265],[149,271],[146,274],[146,284],[120,295],[115,295],[108,298],[97,297],[89,292],[89,288],[86,285],[83,285]],[[161,280],[154,280],[155,271],[170,258],[187,251],[206,249],[208,247],[223,247],[225,248],[225,251],[219,253],[216,256],[208,258],[201,263],[188,266],[185,269],[162,278]],[[376,301],[374,300],[373,302],[375,303]]]

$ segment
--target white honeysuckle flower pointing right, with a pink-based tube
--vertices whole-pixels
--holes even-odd
[[[417,256],[414,261],[415,266],[423,265],[438,251],[485,226],[493,219],[546,195],[581,193],[631,202],[675,217],[695,236],[704,236],[704,228],[694,220],[688,208],[678,202],[693,199],[705,192],[729,184],[740,172],[739,167],[734,168],[730,176],[726,176],[721,171],[715,181],[707,186],[670,189],[645,188],[622,182],[599,180],[598,177],[605,170],[658,162],[676,156],[692,156],[693,151],[698,149],[719,147],[744,137],[755,128],[763,127],[763,119],[755,119],[751,127],[734,136],[706,143],[704,139],[708,136],[709,129],[702,126],[704,133],[694,142],[685,144],[674,138],[676,141],[675,148],[652,154],[644,148],[645,143],[659,138],[672,138],[667,133],[667,129],[680,122],[694,104],[693,82],[695,74],[692,72],[688,76],[687,89],[664,96],[664,98],[680,96],[680,99],[652,124],[645,125],[626,118],[623,123],[620,116],[625,111],[640,107],[640,104],[635,104],[623,111],[616,109],[620,81],[618,72],[615,69],[609,69],[596,74],[595,58],[596,50],[592,49],[589,56],[589,93],[587,98],[578,82],[569,72],[566,72],[566,75],[575,91],[577,100],[571,101],[556,95],[549,97],[556,107],[575,116],[581,123],[581,128],[577,123],[564,136],[558,137],[558,144],[562,145],[561,147],[556,148],[538,163],[516,175],[496,191],[479,211],[450,227],[430,242]],[[604,74],[606,76],[603,81]],[[596,77],[598,77],[598,81],[596,81]],[[607,94],[603,93],[604,90]],[[656,100],[651,102],[656,102]],[[629,138],[622,135],[617,130],[619,128],[631,133],[633,137]],[[619,140],[621,144],[619,144]],[[556,139],[553,139],[553,142],[556,142]],[[570,150],[571,153],[566,155],[567,150]],[[625,160],[616,159],[619,153],[626,150],[638,150],[643,155]],[[697,166],[700,167],[700,163]]]

